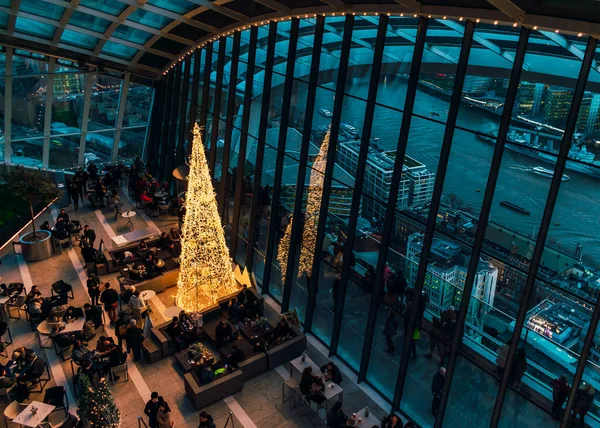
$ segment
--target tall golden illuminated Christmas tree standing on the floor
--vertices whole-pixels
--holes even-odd
[[[212,306],[238,289],[198,125],[194,126],[185,206],[177,306],[189,312]]]

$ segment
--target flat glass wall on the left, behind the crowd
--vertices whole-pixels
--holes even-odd
[[[0,61],[3,161],[69,169],[142,155],[154,98],[151,82],[83,71],[66,60],[12,48],[2,47]]]

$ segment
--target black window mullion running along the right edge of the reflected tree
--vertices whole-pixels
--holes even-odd
[[[333,102],[333,117],[331,118],[331,133],[329,146],[327,147],[327,161],[325,164],[325,176],[323,178],[323,193],[321,195],[321,206],[319,207],[319,222],[317,224],[317,245],[314,248],[313,265],[308,280],[308,303],[306,305],[306,318],[304,320],[304,331],[311,331],[312,319],[317,304],[317,284],[321,270],[322,245],[319,240],[325,234],[327,226],[327,211],[329,198],[331,196],[331,185],[333,184],[333,170],[335,167],[335,154],[340,133],[340,122],[342,121],[342,110],[344,107],[344,92],[346,91],[346,77],[348,75],[348,61],[350,59],[350,47],[352,45],[352,33],[354,29],[354,15],[347,14],[344,22],[344,36],[340,50],[340,65],[338,69],[337,82],[335,86],[335,100]]]

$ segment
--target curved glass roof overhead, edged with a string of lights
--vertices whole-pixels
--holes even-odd
[[[594,0],[568,5],[544,2],[543,10],[533,0],[498,4],[496,8],[487,0],[0,0],[0,35],[3,43],[17,48],[71,54],[80,61],[156,77],[190,48],[215,35],[306,13],[464,13],[469,18],[600,33],[600,8]],[[440,29],[440,40],[453,30]],[[373,31],[366,25],[356,43],[370,44]],[[503,43],[511,43],[491,36],[483,46],[496,52]],[[401,45],[410,37],[414,34],[400,33],[397,42]],[[452,57],[456,49],[440,43],[436,53]]]

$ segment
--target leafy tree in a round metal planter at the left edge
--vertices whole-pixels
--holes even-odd
[[[52,232],[37,230],[35,227],[35,204],[48,204],[62,195],[54,181],[44,176],[39,170],[16,167],[4,178],[7,188],[16,198],[29,206],[32,232],[19,239],[23,257],[27,261],[45,260],[54,253]]]

